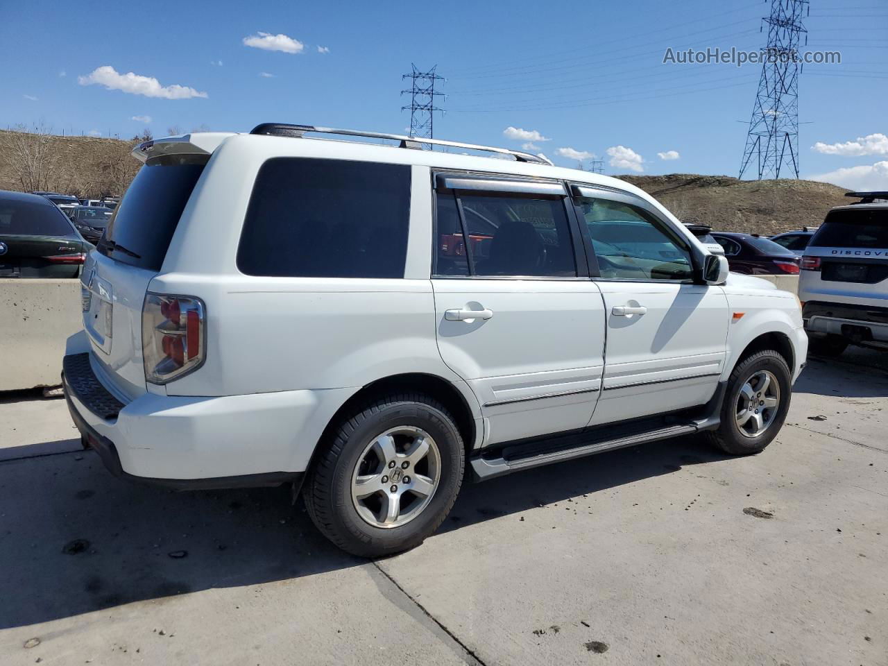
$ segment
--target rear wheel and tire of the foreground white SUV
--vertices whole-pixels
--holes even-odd
[[[407,551],[447,518],[463,482],[456,421],[419,392],[392,393],[345,414],[305,480],[305,508],[344,551]]]

